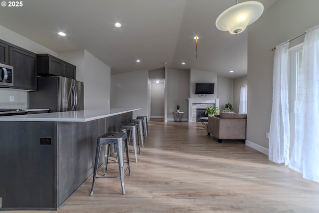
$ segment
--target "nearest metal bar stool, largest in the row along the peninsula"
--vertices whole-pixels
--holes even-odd
[[[125,141],[126,140],[126,141]],[[94,173],[93,173],[93,182],[92,182],[92,188],[90,195],[93,195],[94,185],[95,185],[95,179],[97,178],[119,178],[121,179],[121,186],[122,186],[122,193],[125,195],[125,188],[124,188],[124,176],[129,170],[130,175],[131,169],[130,169],[130,161],[129,161],[129,152],[128,152],[128,143],[127,143],[128,137],[127,133],[121,133],[121,132],[113,132],[113,133],[106,133],[98,138],[97,146],[96,146],[96,154],[95,154],[95,163],[94,163]],[[118,165],[119,165],[119,172],[120,176],[117,177],[106,177],[106,170],[108,165],[108,159],[109,159],[109,151],[110,151],[110,144],[115,144],[116,151],[118,154]],[[99,164],[99,158],[100,158],[100,152],[102,145],[105,145],[105,159],[104,159],[104,176],[96,176],[96,173],[98,171],[98,164]],[[124,171],[124,150],[126,152],[126,159],[127,159],[127,168]]]

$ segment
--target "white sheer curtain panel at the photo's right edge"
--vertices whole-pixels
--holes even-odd
[[[319,26],[306,32],[298,92],[296,141],[289,168],[319,182]]]

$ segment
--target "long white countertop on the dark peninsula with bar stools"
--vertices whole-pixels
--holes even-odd
[[[52,112],[41,114],[26,114],[2,116],[0,121],[49,121],[49,122],[87,122],[100,118],[106,118],[113,115],[119,115],[127,112],[133,112],[139,109],[111,108],[110,110],[80,110],[69,112]]]

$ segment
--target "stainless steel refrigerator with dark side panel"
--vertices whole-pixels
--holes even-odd
[[[84,109],[84,85],[62,77],[38,77],[38,90],[29,92],[29,108],[49,108],[49,112]]]

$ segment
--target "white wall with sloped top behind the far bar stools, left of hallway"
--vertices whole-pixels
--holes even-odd
[[[141,108],[133,117],[148,115],[149,70],[111,75],[111,108]]]

